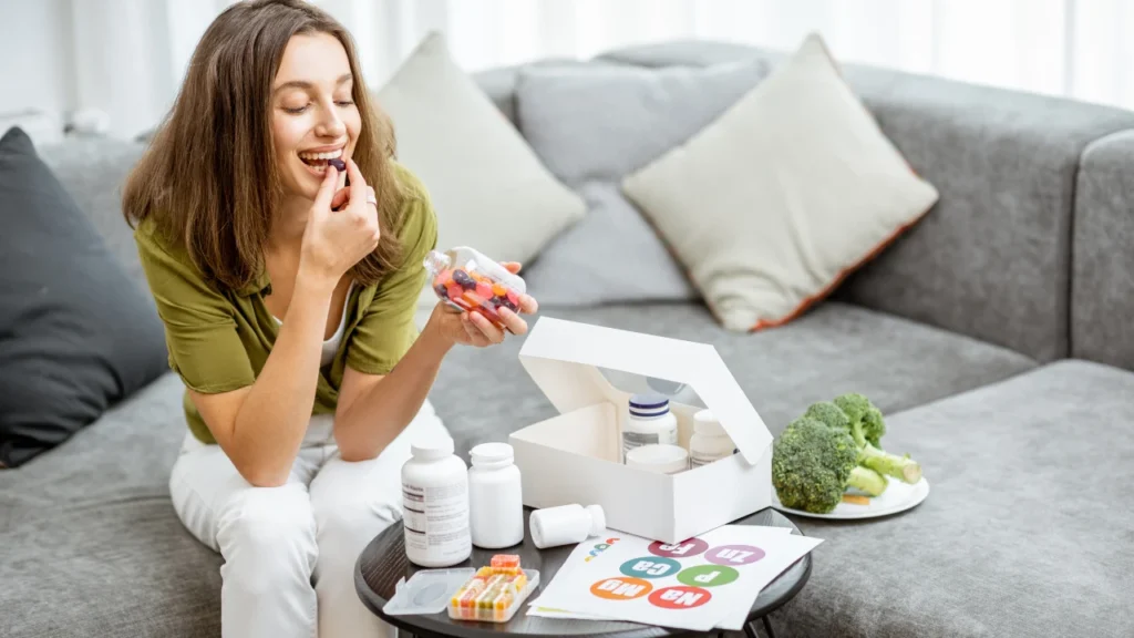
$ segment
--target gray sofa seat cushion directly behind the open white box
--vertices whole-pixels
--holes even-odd
[[[844,392],[862,392],[895,411],[1034,367],[997,346],[838,302],[755,334],[725,330],[699,303],[541,309],[530,325],[540,316],[712,344],[773,435],[812,402]],[[442,363],[430,401],[458,452],[507,440],[556,414],[519,363],[522,344],[513,337],[486,350],[457,349]],[[629,380],[611,383],[627,389]],[[469,409],[469,401],[500,408]]]

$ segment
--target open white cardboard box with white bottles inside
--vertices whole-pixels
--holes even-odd
[[[771,505],[772,436],[713,346],[541,317],[519,360],[559,411],[509,436],[525,505],[598,503],[609,528],[665,543]],[[738,453],[677,475],[623,464],[620,423],[631,394],[600,368],[688,384]],[[671,402],[670,410],[687,448],[700,406]]]

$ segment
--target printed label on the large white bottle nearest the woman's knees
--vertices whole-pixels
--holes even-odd
[[[446,556],[468,545],[468,492],[465,481],[440,487],[401,484],[406,548]]]

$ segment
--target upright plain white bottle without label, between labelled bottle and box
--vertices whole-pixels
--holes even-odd
[[[524,495],[519,468],[507,443],[482,443],[469,452],[468,514],[473,545],[511,547],[524,540]]]

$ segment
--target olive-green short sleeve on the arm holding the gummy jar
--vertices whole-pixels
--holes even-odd
[[[408,171],[403,212],[401,266],[379,284],[374,299],[355,328],[347,351],[347,366],[367,375],[388,375],[417,338],[414,321],[417,300],[425,286],[425,255],[437,246],[437,213],[424,187]]]

